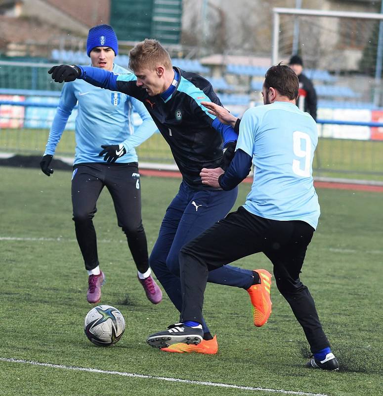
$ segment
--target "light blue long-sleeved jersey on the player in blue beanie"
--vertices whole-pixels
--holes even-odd
[[[114,73],[129,73],[114,64]],[[101,145],[122,143],[127,153],[116,162],[137,162],[135,147],[157,131],[157,126],[145,106],[137,99],[121,92],[94,87],[84,80],[65,83],[60,101],[49,132],[45,154],[53,155],[64,131],[68,118],[79,103],[76,117],[76,152],[74,164],[104,162],[98,153]],[[133,108],[142,119],[134,132]]]

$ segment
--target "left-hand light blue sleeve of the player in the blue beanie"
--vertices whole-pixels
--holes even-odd
[[[53,118],[52,126],[49,131],[48,141],[45,146],[44,155],[54,155],[58,142],[65,129],[68,118],[76,106],[77,98],[73,91],[73,84],[65,83],[61,91],[60,101],[57,106],[56,114]]]

